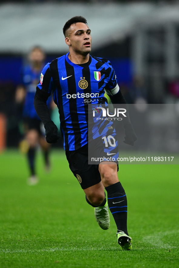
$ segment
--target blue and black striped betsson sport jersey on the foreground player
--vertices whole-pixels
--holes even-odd
[[[68,54],[44,67],[36,94],[43,99],[53,91],[64,148],[77,150],[88,142],[88,104],[107,104],[104,88],[109,95],[114,95],[119,87],[108,60],[90,56],[88,63],[77,65],[69,60]],[[37,109],[44,124],[50,120],[38,105]]]

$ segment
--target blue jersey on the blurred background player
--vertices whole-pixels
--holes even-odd
[[[37,83],[40,81],[41,70],[36,71],[31,65],[26,65],[21,72],[21,84],[25,87],[25,101],[23,106],[23,117],[36,118],[38,117],[34,108],[34,96],[36,92]],[[51,98],[48,99],[49,106]]]

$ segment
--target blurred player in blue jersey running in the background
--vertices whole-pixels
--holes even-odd
[[[22,81],[17,87],[15,101],[19,107],[22,107],[23,130],[25,139],[20,143],[22,152],[27,153],[27,159],[30,169],[28,184],[34,185],[38,182],[35,170],[35,153],[37,146],[40,145],[45,160],[45,168],[49,170],[49,145],[45,140],[43,125],[34,108],[34,96],[37,83],[41,78],[45,53],[41,47],[34,47],[29,53],[29,64],[22,69]],[[50,105],[51,99],[48,101]]]

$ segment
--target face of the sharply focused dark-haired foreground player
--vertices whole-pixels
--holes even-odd
[[[65,42],[76,53],[87,55],[91,51],[91,30],[82,22],[72,24]]]

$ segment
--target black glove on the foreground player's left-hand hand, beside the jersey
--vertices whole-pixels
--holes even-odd
[[[53,121],[48,121],[45,125],[45,138],[48,143],[57,143],[60,136],[58,136],[58,128]]]

